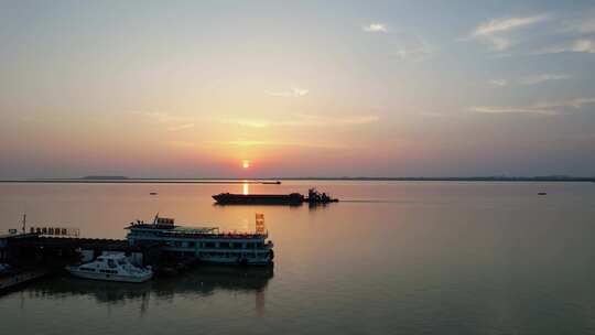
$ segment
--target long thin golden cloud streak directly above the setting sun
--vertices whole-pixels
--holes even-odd
[[[232,123],[250,128],[266,127],[333,127],[333,126],[356,126],[374,123],[379,120],[378,116],[346,116],[346,117],[321,117],[313,115],[294,115],[286,120],[259,120],[259,119],[237,119],[223,120],[224,123]]]

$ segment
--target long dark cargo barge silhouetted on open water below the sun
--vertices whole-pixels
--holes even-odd
[[[318,193],[315,188],[310,188],[307,196],[300,193],[290,194],[231,194],[220,193],[213,198],[220,205],[290,205],[299,206],[303,203],[327,204],[336,203],[337,198],[332,198],[326,193]]]

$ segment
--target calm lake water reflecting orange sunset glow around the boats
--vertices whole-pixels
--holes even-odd
[[[345,201],[210,198],[309,186]],[[25,212],[109,238],[156,212],[226,230],[263,213],[275,264],[144,284],[56,277],[0,296],[0,334],[595,334],[593,183],[0,184],[0,230]]]

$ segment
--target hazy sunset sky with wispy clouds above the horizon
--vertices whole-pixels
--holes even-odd
[[[0,179],[595,175],[593,1],[0,1]]]

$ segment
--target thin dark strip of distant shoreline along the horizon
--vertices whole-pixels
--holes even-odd
[[[0,180],[0,183],[78,183],[78,184],[261,184],[274,181],[363,181],[363,182],[593,182],[595,177],[580,176],[474,176],[474,177],[271,177],[271,179],[147,179],[107,176],[82,179]]]

